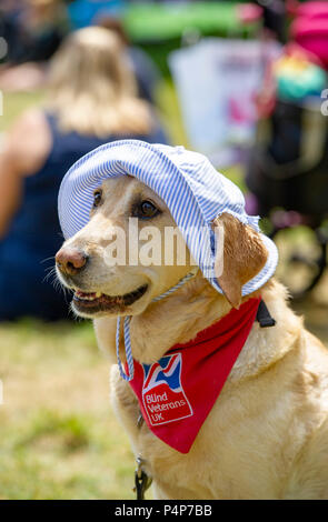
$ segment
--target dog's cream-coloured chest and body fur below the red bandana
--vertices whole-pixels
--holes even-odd
[[[274,299],[271,299],[274,295]],[[257,323],[190,452],[138,428],[137,399],[113,364],[111,400],[159,499],[328,498],[328,355],[272,287],[277,319]],[[112,352],[97,329],[99,344]],[[107,329],[108,330],[108,329]],[[133,338],[132,338],[133,344]]]

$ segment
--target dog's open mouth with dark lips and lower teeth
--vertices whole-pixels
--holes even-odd
[[[103,311],[116,312],[133,304],[147,292],[148,284],[142,284],[132,292],[123,295],[107,295],[101,292],[82,292],[76,290],[73,305],[78,312],[97,313]]]

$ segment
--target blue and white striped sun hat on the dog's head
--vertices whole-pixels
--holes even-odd
[[[258,217],[245,211],[241,191],[220,174],[209,160],[183,147],[119,140],[99,147],[68,171],[59,191],[59,219],[66,239],[89,221],[93,191],[103,180],[132,175],[152,189],[169,208],[190,253],[203,275],[222,293],[215,278],[211,222],[228,212],[258,229]],[[268,250],[262,270],[242,288],[242,295],[258,290],[272,277],[278,262],[275,243],[261,234]]]

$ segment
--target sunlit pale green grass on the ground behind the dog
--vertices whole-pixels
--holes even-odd
[[[2,129],[41,99],[6,94]],[[170,83],[159,103],[172,141],[188,145]],[[239,169],[228,175],[242,187]],[[297,304],[326,343],[327,287],[326,278],[319,299]],[[135,498],[133,456],[109,404],[109,364],[89,322],[0,324],[0,499]]]

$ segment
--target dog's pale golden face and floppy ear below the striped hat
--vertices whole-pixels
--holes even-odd
[[[217,279],[238,307],[242,285],[268,252],[260,235],[231,214],[221,214],[212,229],[225,239]],[[193,267],[166,203],[129,175],[107,179],[95,191],[88,224],[63,243],[56,263],[60,281],[74,291],[74,312],[88,318],[139,314]]]

